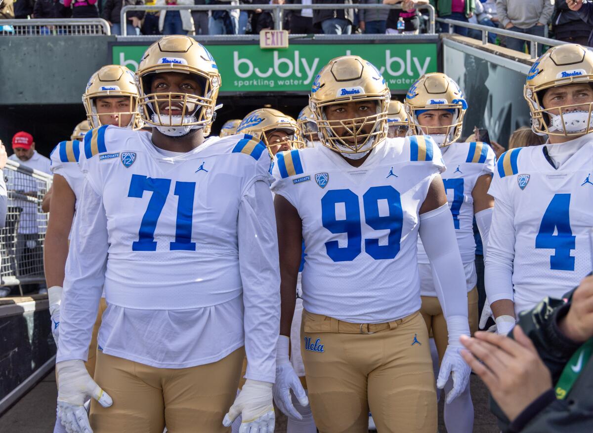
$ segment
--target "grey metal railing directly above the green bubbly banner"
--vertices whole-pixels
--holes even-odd
[[[429,23],[428,34],[435,34],[435,8],[432,5],[415,5],[416,9],[428,9]],[[241,11],[254,11],[262,9],[270,11],[274,17],[275,30],[282,30],[284,11],[297,11],[300,9],[401,9],[401,4],[396,5],[359,5],[359,4],[339,4],[339,5],[187,5],[187,6],[152,6],[152,5],[129,5],[122,8],[120,12],[120,23],[126,23],[126,14],[130,11],[229,11],[239,9]],[[126,25],[122,25],[122,36],[127,36]]]

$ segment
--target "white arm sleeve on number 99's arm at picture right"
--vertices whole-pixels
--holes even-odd
[[[449,344],[469,335],[466,274],[448,204],[420,215],[420,239],[431,261],[436,296],[447,320]]]

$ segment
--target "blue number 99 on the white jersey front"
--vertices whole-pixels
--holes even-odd
[[[388,214],[380,215],[379,202],[387,205]],[[343,203],[346,218],[337,219],[336,204]],[[365,239],[365,252],[374,259],[393,259],[400,252],[403,211],[400,193],[391,187],[372,187],[362,195],[365,223],[373,230],[389,230],[387,245],[379,239]],[[362,227],[359,197],[350,190],[330,190],[321,198],[321,220],[331,233],[346,233],[347,245],[337,240],[326,242],[327,255],[334,262],[352,261],[362,252]]]

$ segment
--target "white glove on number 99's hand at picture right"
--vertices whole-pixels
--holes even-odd
[[[436,387],[443,389],[449,380],[449,376],[452,376],[453,389],[447,394],[447,403],[451,403],[466,389],[467,383],[470,380],[471,367],[461,357],[463,345],[459,341],[461,335],[470,335],[470,325],[467,321],[467,316],[447,317],[447,329],[449,332],[449,344],[441,362]]]

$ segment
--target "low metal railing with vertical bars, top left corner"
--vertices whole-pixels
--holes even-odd
[[[111,34],[103,18],[0,20],[0,36],[94,36]]]

